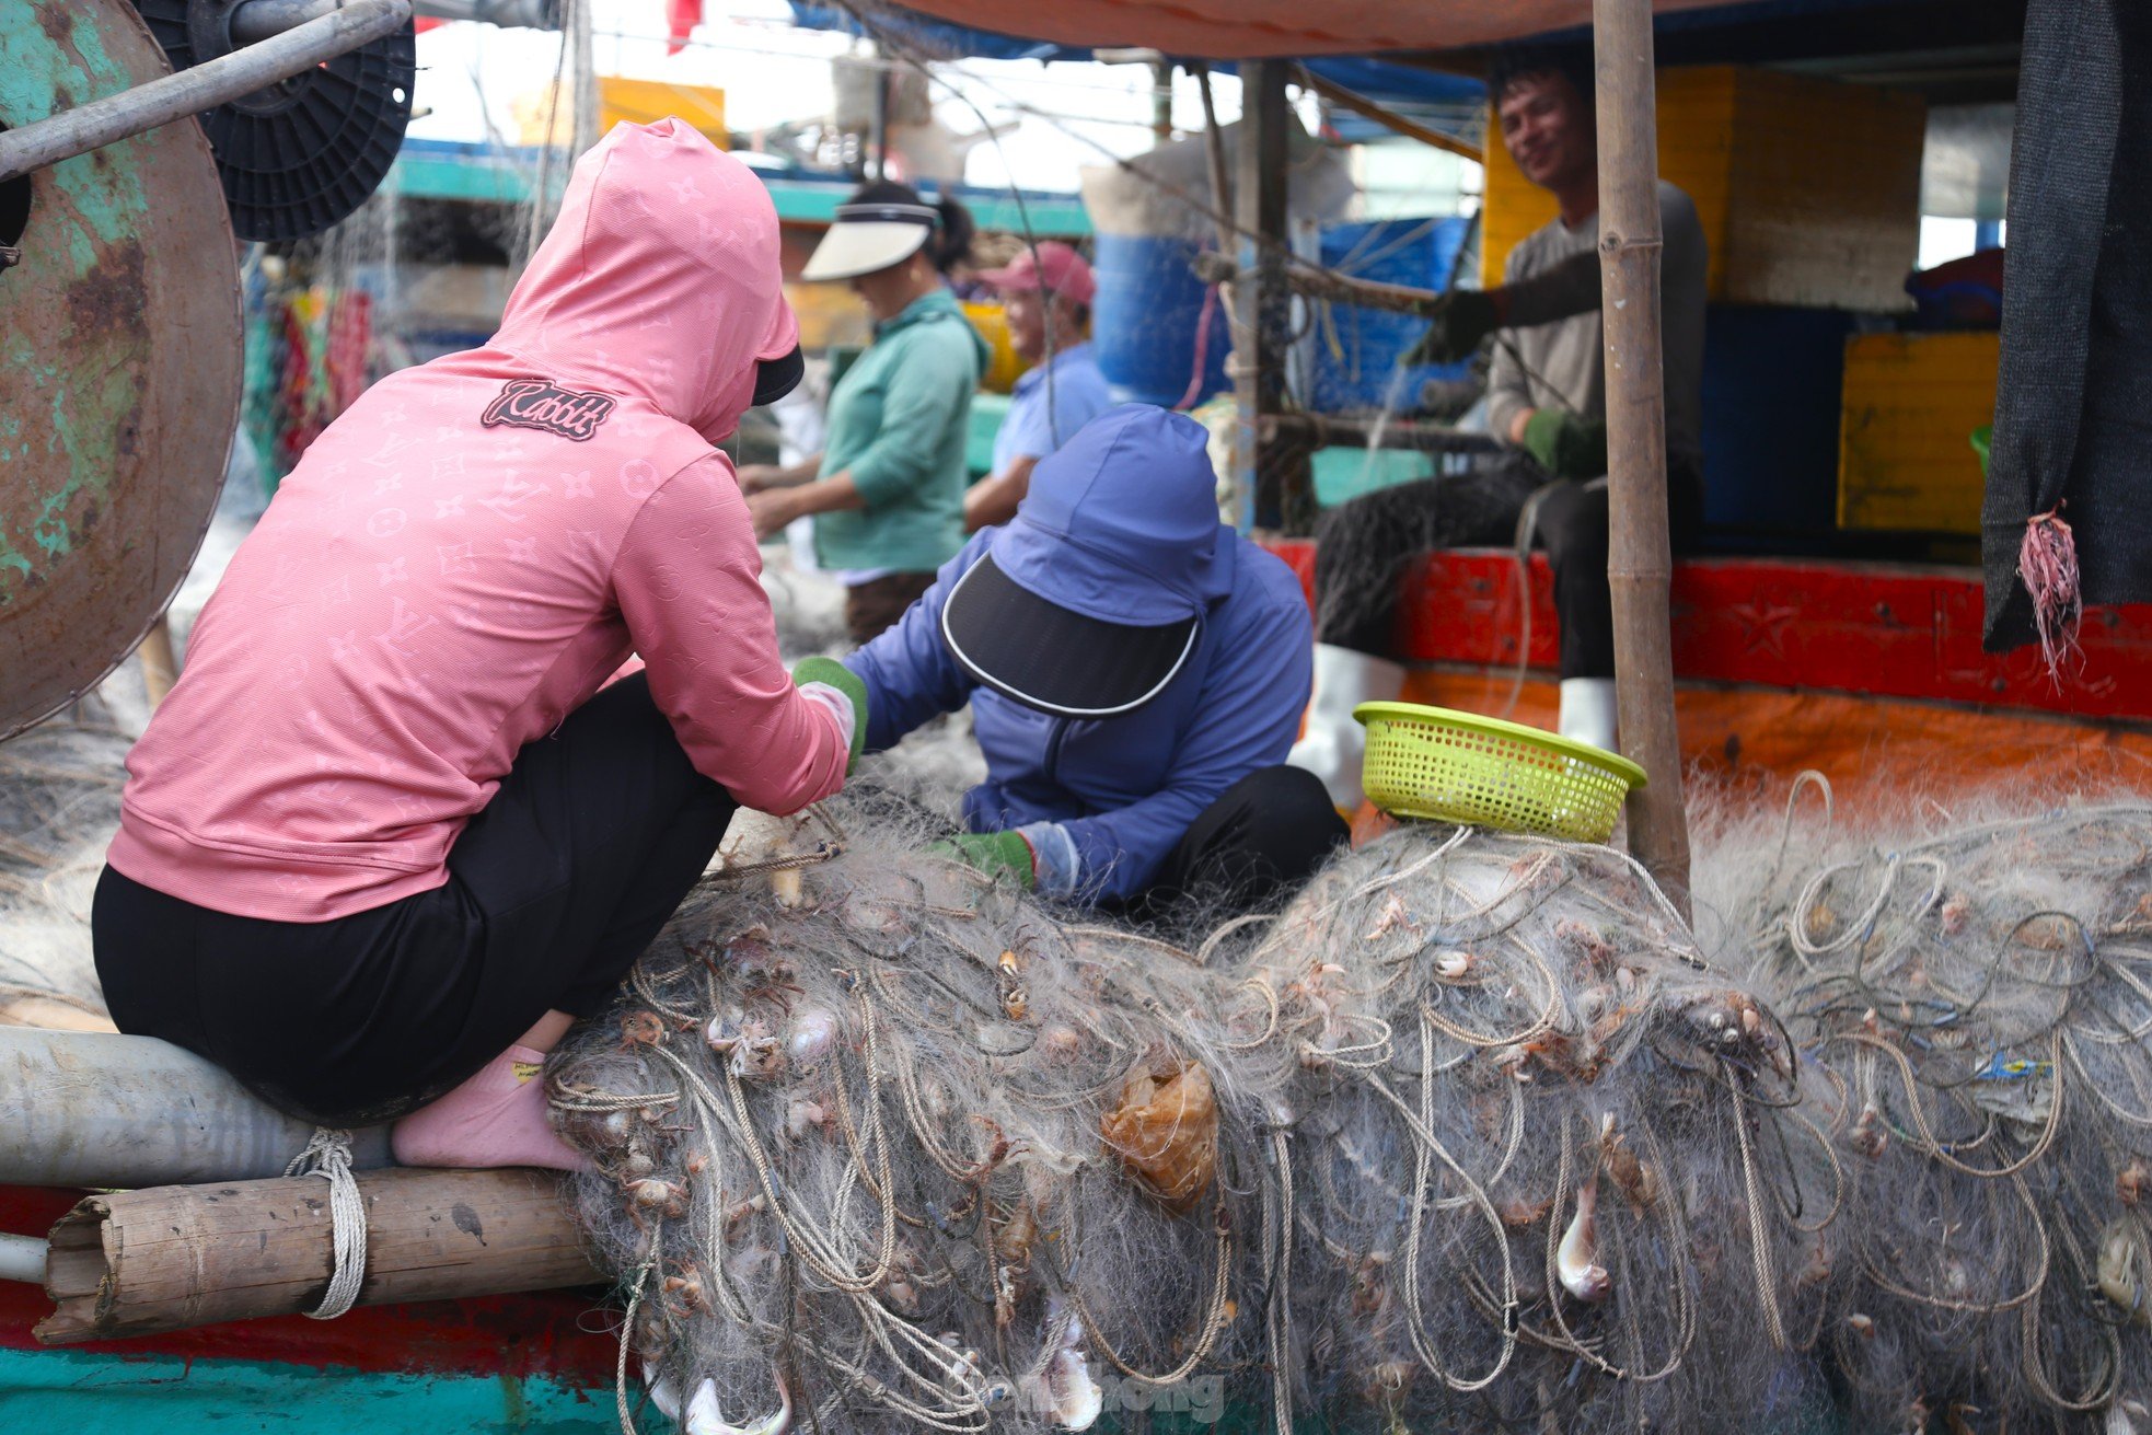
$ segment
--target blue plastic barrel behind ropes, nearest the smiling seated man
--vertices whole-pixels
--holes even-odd
[[[1448,288],[1470,230],[1472,222],[1461,217],[1330,224],[1321,232],[1323,267],[1356,280],[1440,290]],[[1315,325],[1317,413],[1384,409],[1392,398],[1410,404],[1429,379],[1463,379],[1470,364],[1425,364],[1397,379],[1397,361],[1425,331],[1427,321],[1412,314],[1332,303],[1328,323]]]

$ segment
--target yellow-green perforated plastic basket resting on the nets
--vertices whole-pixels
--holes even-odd
[[[1644,768],[1539,727],[1420,704],[1360,704],[1360,785],[1394,818],[1605,841]]]

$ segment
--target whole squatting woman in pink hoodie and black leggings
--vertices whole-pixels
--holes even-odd
[[[798,368],[745,166],[678,120],[583,155],[493,342],[368,389],[202,611],[97,889],[114,1022],[405,1117],[407,1164],[575,1164],[544,1052],[865,727],[779,665],[712,447]]]

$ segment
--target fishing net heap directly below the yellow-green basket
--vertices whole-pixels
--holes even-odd
[[[1608,848],[1416,828],[1257,949],[1315,1405],[1801,1429],[1842,1181],[1778,1018]],[[1248,1018],[1242,1015],[1242,1022]]]

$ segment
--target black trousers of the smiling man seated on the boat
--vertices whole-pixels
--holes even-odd
[[[1315,639],[1394,656],[1410,562],[1435,549],[1515,542],[1517,518],[1543,486],[1534,531],[1554,568],[1562,678],[1612,678],[1608,491],[1549,484],[1524,454],[1498,454],[1466,473],[1397,484],[1326,512],[1315,527]],[[1704,510],[1704,486],[1691,467],[1668,473],[1666,510],[1674,549],[1687,549]]]

